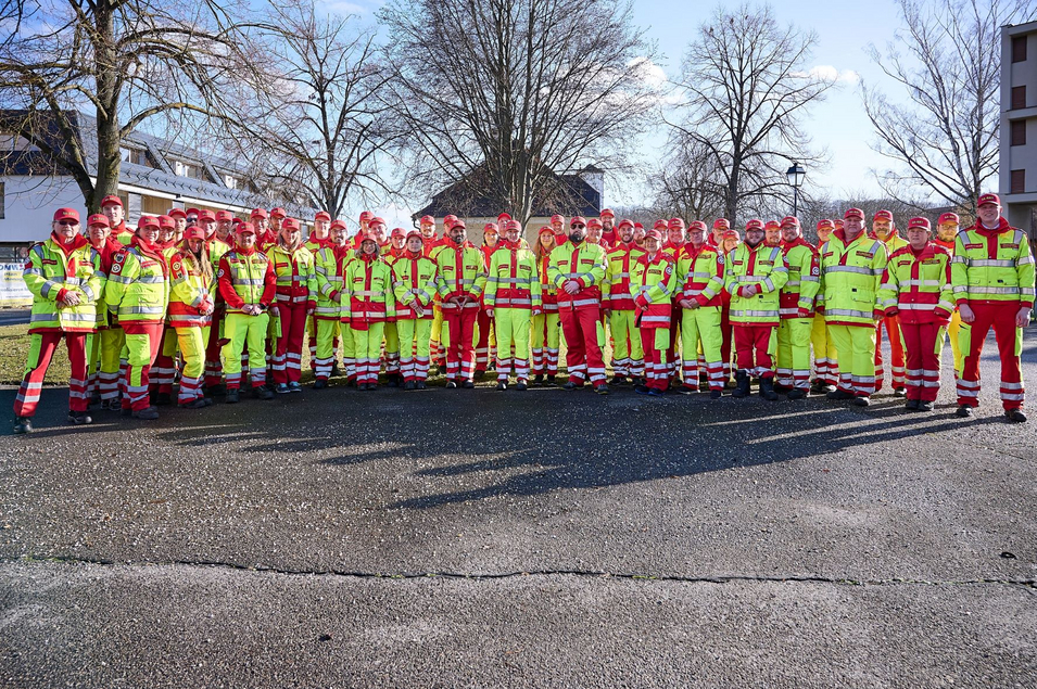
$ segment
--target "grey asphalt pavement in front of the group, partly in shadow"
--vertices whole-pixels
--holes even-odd
[[[0,686],[1037,686],[994,354],[965,421],[946,369],[929,414],[332,386],[69,429],[46,390],[0,438]]]

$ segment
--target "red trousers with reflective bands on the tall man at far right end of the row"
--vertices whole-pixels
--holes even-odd
[[[983,341],[990,328],[997,339],[1001,358],[1001,406],[1020,409],[1023,406],[1023,372],[1019,355],[1023,350],[1023,329],[1015,327],[1019,302],[1001,304],[970,304],[976,320],[962,322],[958,331],[958,345],[965,353],[961,378],[958,380],[958,404],[979,406],[979,355]]]

